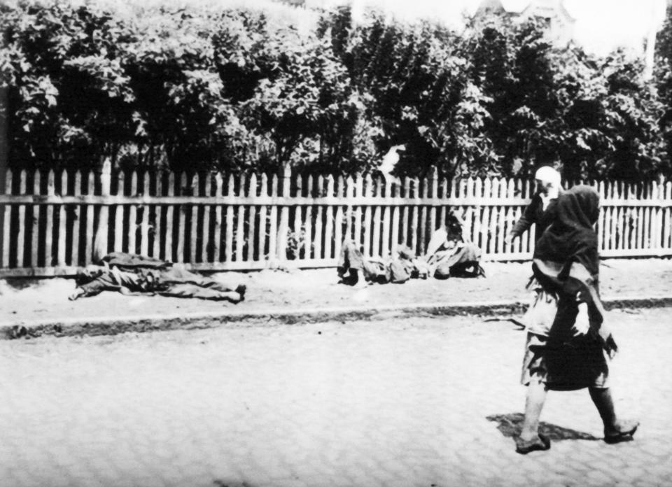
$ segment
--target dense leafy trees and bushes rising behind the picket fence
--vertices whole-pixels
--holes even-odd
[[[258,10],[1,6],[0,117],[12,167],[375,169],[639,181],[669,175],[672,36],[655,86],[622,52],[559,48],[535,21],[457,33],[376,12],[309,32]],[[302,14],[299,14],[302,15]]]

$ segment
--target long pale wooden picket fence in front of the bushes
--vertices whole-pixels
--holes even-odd
[[[400,245],[423,253],[451,209],[484,260],[526,260],[533,233],[505,235],[521,216],[531,181],[367,175],[187,174],[48,171],[3,175],[0,275],[73,274],[96,253],[124,251],[201,270],[261,269],[294,260],[335,266],[344,238],[365,255]],[[601,255],[672,255],[672,183],[597,183]]]

